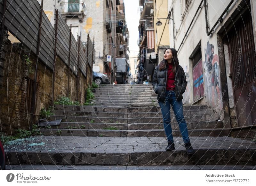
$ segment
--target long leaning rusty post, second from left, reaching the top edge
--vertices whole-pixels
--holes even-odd
[[[38,38],[37,38],[37,49],[36,49],[36,68],[35,68],[35,77],[34,77],[34,93],[32,98],[31,110],[32,116],[30,118],[29,128],[32,128],[32,122],[35,118],[35,111],[36,111],[36,80],[37,80],[37,63],[39,60],[39,52],[40,52],[40,39],[41,39],[41,26],[42,26],[42,17],[43,17],[43,4],[44,0],[41,2],[41,9],[40,9],[40,21],[39,21],[39,30],[38,30]]]

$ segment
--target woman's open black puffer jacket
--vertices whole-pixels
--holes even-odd
[[[156,94],[158,94],[157,99],[159,101],[165,100],[166,80],[167,80],[167,68],[164,68],[163,70],[160,71],[159,65],[156,66],[154,75],[153,75],[152,85]],[[183,68],[180,65],[178,65],[176,69],[174,83],[175,83],[176,99],[177,101],[180,101],[183,99],[182,94],[185,92],[187,87],[186,75]]]

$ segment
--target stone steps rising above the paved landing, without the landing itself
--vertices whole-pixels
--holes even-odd
[[[96,89],[95,105],[55,105],[51,120],[62,119],[44,135],[164,137],[162,112],[152,85],[108,85]],[[190,136],[228,136],[219,115],[207,105],[183,106]],[[173,136],[180,136],[179,126],[171,110]]]

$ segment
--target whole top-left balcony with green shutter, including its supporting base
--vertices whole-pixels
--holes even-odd
[[[60,13],[64,19],[66,17],[78,17],[79,21],[82,22],[86,15],[84,2],[77,3],[60,3]]]

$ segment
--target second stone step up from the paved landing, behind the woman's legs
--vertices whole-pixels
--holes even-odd
[[[148,130],[148,129],[164,129],[162,122],[159,123],[89,123],[89,122],[61,122],[58,126],[50,126],[47,128],[58,129],[110,129],[116,128],[119,130]],[[199,121],[187,122],[188,129],[209,129],[223,128],[222,121]],[[179,130],[177,122],[172,123],[172,129]]]

